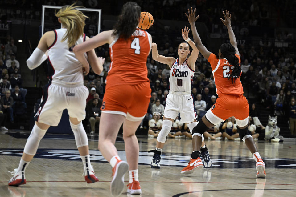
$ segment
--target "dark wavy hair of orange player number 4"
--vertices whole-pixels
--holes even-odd
[[[141,7],[135,2],[126,2],[117,22],[113,27],[113,36],[127,40],[136,30],[141,14]]]

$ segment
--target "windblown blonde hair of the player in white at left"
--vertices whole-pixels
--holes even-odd
[[[64,6],[55,13],[55,16],[61,19],[62,26],[67,28],[61,42],[64,42],[68,38],[69,47],[75,45],[76,41],[83,36],[85,19],[88,18],[81,11],[76,10],[80,6],[74,6],[74,4]]]

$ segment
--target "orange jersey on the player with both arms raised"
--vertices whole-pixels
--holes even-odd
[[[240,56],[236,54],[236,57],[238,58],[238,62],[241,63]],[[233,84],[231,79],[228,80],[228,76],[232,72],[234,66],[231,65],[227,59],[218,59],[215,54],[211,53],[208,58],[208,62],[212,67],[218,96],[221,96],[221,94],[231,94],[237,96],[244,94],[240,79],[236,79]]]

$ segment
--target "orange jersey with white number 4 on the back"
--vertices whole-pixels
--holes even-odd
[[[115,39],[109,45],[111,64],[106,78],[106,88],[149,82],[146,66],[150,53],[148,35],[145,30],[137,28],[129,39]]]

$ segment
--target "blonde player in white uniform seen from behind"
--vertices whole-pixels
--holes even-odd
[[[51,70],[49,83],[43,87],[43,96],[35,115],[35,125],[27,139],[19,167],[11,172],[14,176],[8,185],[26,184],[25,170],[36,154],[40,140],[50,126],[59,124],[64,109],[68,110],[70,126],[83,161],[84,178],[87,183],[98,181],[90,163],[88,138],[81,123],[85,119],[88,96],[88,88],[83,85],[83,70],[87,74],[89,66],[83,67],[72,50],[75,45],[89,39],[83,33],[87,16],[76,8],[78,6],[72,4],[62,7],[55,13],[62,28],[46,32],[27,59],[27,66],[31,70],[48,59]],[[90,62],[94,72],[100,74],[104,59],[97,58],[94,50],[88,50],[84,57]]]

